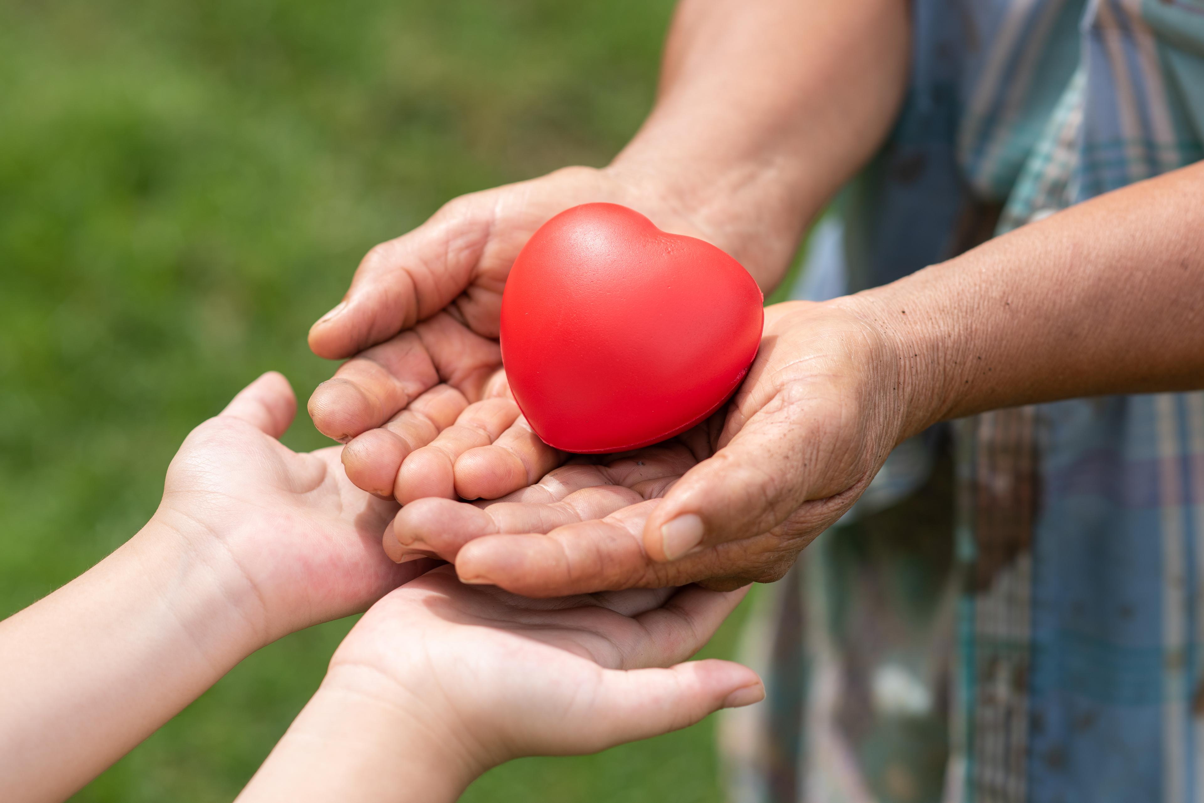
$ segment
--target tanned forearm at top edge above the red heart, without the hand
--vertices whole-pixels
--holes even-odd
[[[903,0],[683,0],[656,107],[612,170],[655,175],[769,288],[885,137],[909,41]]]

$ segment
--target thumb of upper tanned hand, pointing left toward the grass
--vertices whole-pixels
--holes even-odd
[[[468,287],[489,243],[492,205],[486,201],[456,199],[409,234],[370,250],[343,301],[309,330],[314,354],[349,356],[452,303]],[[500,305],[500,287],[496,295]]]

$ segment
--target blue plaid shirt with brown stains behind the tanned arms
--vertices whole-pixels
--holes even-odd
[[[799,297],[1204,158],[1204,0],[913,13],[907,104],[813,235]],[[725,725],[733,798],[1204,799],[1204,394],[999,411],[952,435],[948,571],[842,545],[925,485],[928,433],[762,595],[748,649],[771,697]]]

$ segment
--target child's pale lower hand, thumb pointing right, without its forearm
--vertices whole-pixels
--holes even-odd
[[[378,699],[471,774],[595,752],[765,696],[743,666],[684,662],[742,597],[690,586],[527,600],[439,567],[364,615],[321,693]]]

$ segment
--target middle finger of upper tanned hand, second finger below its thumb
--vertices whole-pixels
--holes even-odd
[[[402,461],[433,441],[467,406],[455,388],[435,385],[383,426],[358,435],[343,448],[347,477],[370,494],[391,497]]]

